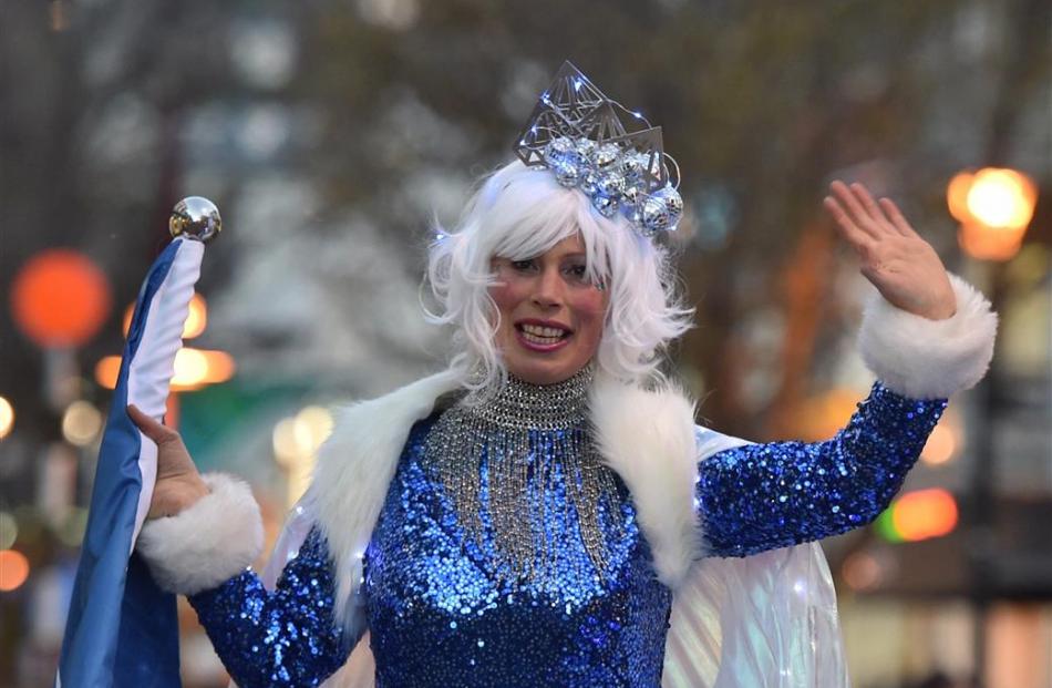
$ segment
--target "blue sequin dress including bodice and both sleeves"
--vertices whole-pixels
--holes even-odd
[[[749,444],[702,461],[705,552],[745,556],[868,523],[900,487],[945,405],[878,382],[826,442]],[[365,552],[377,686],[657,688],[672,593],[654,577],[623,483],[599,514],[602,571],[585,552],[566,491],[556,489],[536,505],[559,534],[543,575],[508,581],[495,575],[492,538],[464,536],[429,470],[433,422],[413,428]],[[357,641],[333,627],[333,589],[314,530],[275,592],[245,572],[190,603],[241,688],[316,686]]]

